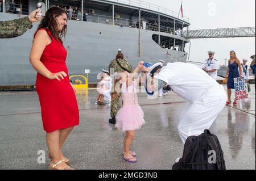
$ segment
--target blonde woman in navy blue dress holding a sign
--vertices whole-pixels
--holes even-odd
[[[239,68],[239,70],[238,70]],[[228,102],[226,102],[226,106],[230,106],[231,101],[231,89],[234,89],[234,78],[240,77],[242,79],[242,67],[241,62],[237,58],[236,52],[230,52],[230,59],[229,59],[229,66],[228,70],[226,71],[225,79],[228,79]],[[237,106],[237,100],[234,100],[234,106]]]

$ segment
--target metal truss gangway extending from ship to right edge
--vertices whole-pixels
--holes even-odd
[[[255,37],[255,27],[219,28],[183,31],[186,39],[209,39],[221,37]]]

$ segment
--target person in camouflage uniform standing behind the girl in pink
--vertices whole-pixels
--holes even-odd
[[[128,71],[129,73],[133,72],[133,68],[131,67],[131,64],[123,59],[123,54],[121,53],[121,49],[118,50],[118,54],[116,56],[116,58],[114,60],[112,60],[112,62],[109,65],[109,72],[112,72],[111,69],[114,69],[114,73],[119,73],[120,71]],[[113,81],[114,78],[113,78]],[[115,89],[115,83],[113,83],[112,86],[112,93],[111,93],[111,113],[110,116],[112,117],[111,119],[109,119],[109,123],[110,124],[115,124],[115,116],[117,115],[118,112],[118,101],[119,98],[121,96],[121,92],[117,93],[117,96],[115,96],[114,94],[114,89]]]

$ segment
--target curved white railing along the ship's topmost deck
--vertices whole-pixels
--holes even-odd
[[[182,18],[181,14],[178,13],[178,12],[169,10],[169,9],[167,9],[165,7],[154,5],[152,3],[144,2],[144,1],[141,1],[141,0],[108,0],[108,1],[123,3],[123,4],[131,5],[131,6],[137,6],[137,7],[141,7],[142,9],[162,12],[163,14],[173,16],[175,18],[184,20],[185,22],[189,22],[189,18],[188,17],[183,16],[183,18]]]

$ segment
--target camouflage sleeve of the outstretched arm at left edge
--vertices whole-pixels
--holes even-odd
[[[23,35],[32,28],[32,23],[28,16],[6,22],[0,22],[0,38],[6,39]]]

